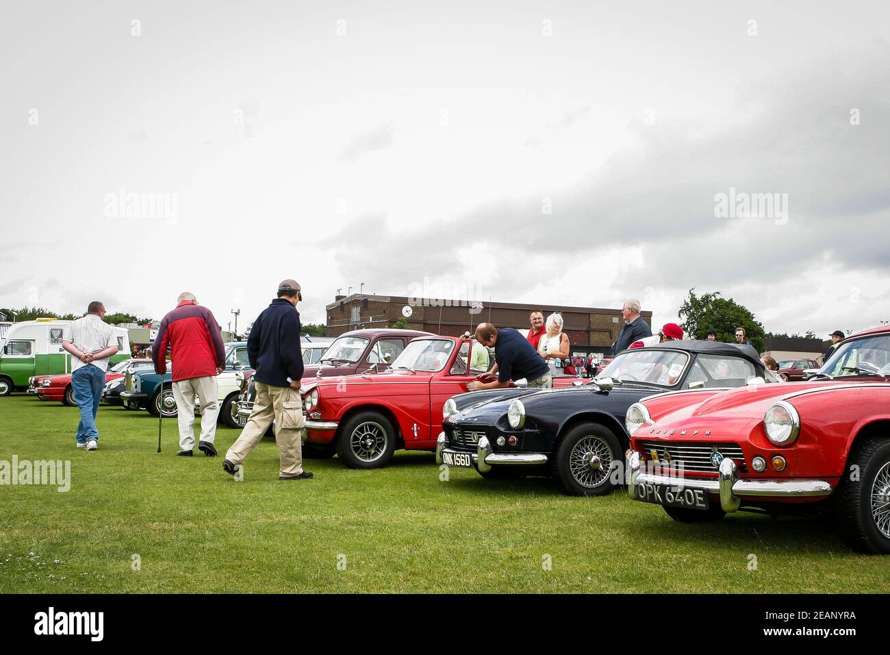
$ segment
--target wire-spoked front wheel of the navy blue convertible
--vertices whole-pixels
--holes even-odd
[[[611,469],[622,453],[614,432],[599,423],[578,423],[556,446],[554,476],[566,494],[606,494],[614,487]]]

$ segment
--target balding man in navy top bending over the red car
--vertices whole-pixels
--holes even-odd
[[[531,347],[528,340],[513,328],[498,330],[491,323],[479,323],[476,326],[476,340],[486,348],[495,349],[495,365],[491,374],[498,374],[498,380],[491,382],[470,381],[466,388],[470,391],[480,389],[499,389],[506,387],[511,380],[525,380],[530,389],[550,389],[553,377],[544,359],[538,351]]]

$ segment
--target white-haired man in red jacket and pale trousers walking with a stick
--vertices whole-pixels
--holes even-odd
[[[155,372],[166,373],[166,349],[170,347],[173,395],[179,414],[178,455],[190,457],[195,447],[195,397],[201,401],[201,436],[198,450],[216,454],[216,417],[220,413],[216,375],[225,368],[223,335],[213,313],[198,307],[188,291],[179,294],[176,308],[164,316],[151,348]],[[173,365],[175,364],[175,366]]]

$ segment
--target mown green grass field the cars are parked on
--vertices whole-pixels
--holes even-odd
[[[176,457],[174,420],[157,454],[156,419],[103,406],[86,453],[77,417],[0,398],[0,460],[68,459],[72,479],[68,493],[0,487],[0,592],[890,592],[890,561],[849,551],[823,519],[683,525],[623,492],[441,481],[425,453],[379,471],[308,460],[315,479],[279,482],[271,439],[236,482],[222,457]],[[220,454],[237,436],[217,431]]]

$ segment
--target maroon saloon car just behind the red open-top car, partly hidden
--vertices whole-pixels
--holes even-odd
[[[303,380],[376,372],[388,366],[401,354],[408,342],[415,337],[433,336],[431,332],[418,330],[352,330],[344,332],[328,346],[318,364],[305,366]],[[301,343],[301,345],[303,345]],[[254,408],[256,391],[253,378],[245,376],[238,405],[232,407],[231,420],[244,427]]]

